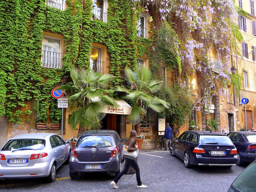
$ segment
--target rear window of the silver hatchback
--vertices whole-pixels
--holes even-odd
[[[46,141],[44,139],[13,139],[9,140],[2,150],[43,150],[45,148],[45,143]]]

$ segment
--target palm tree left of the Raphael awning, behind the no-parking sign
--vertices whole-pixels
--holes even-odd
[[[71,69],[70,75],[73,86],[64,85],[59,89],[70,90],[71,96],[71,116],[68,123],[75,130],[79,124],[80,128],[99,129],[100,120],[106,115],[103,113],[105,104],[118,106],[116,100],[109,97],[109,93],[114,91],[108,90],[107,86],[114,77],[110,74],[101,75],[92,70]]]

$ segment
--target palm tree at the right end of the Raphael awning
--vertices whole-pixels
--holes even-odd
[[[146,115],[147,108],[155,112],[162,112],[165,108],[169,108],[169,103],[154,96],[161,88],[162,81],[152,78],[150,69],[145,66],[139,67],[136,71],[125,68],[125,77],[130,89],[117,88],[117,91],[125,92],[127,100],[135,100],[132,106],[132,112],[127,117],[127,121],[135,124],[135,130],[140,134],[140,122]]]

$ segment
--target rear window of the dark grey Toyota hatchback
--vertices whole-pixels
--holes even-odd
[[[86,135],[78,139],[76,146],[103,148],[113,146],[113,143],[113,138],[109,135]]]

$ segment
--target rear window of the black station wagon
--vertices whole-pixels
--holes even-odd
[[[200,135],[200,144],[233,145],[226,135]]]

